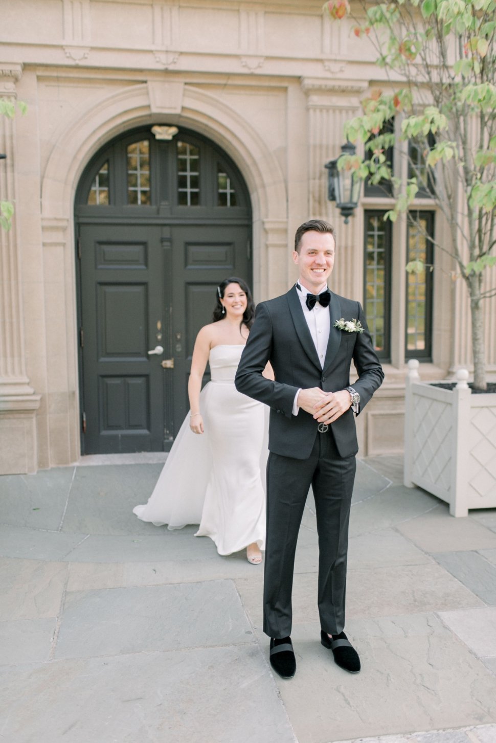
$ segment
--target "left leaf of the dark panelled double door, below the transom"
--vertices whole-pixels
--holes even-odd
[[[87,454],[163,449],[163,354],[148,353],[165,346],[160,236],[160,227],[81,227]]]

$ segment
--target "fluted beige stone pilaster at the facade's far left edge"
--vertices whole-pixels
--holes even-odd
[[[16,100],[22,65],[0,64],[0,97]],[[0,116],[0,199],[16,203],[16,120]],[[26,375],[16,215],[0,229],[0,474],[36,471],[40,396]]]

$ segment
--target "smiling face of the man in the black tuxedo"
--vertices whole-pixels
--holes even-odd
[[[330,233],[310,230],[301,238],[298,252],[293,251],[293,262],[299,268],[300,282],[312,293],[317,293],[332,273],[336,242]]]

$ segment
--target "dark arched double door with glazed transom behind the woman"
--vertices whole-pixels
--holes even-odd
[[[206,137],[148,126],[88,163],[75,224],[82,453],[169,450],[215,288],[251,284],[247,186]]]

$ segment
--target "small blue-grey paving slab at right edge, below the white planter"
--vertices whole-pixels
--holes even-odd
[[[472,551],[440,552],[434,557],[486,604],[496,606],[496,565]]]

